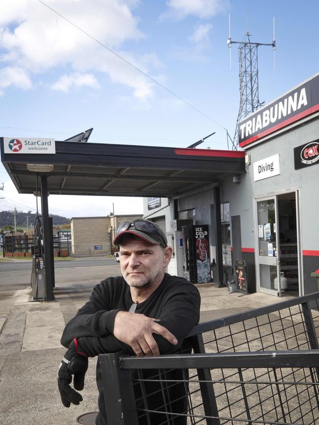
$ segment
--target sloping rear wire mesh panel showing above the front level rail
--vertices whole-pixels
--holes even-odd
[[[195,326],[206,352],[318,348],[319,294]],[[310,308],[311,307],[311,308]]]

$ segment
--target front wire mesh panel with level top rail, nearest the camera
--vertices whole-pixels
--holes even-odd
[[[137,367],[133,385],[135,394],[136,387],[140,392],[136,403],[138,424],[317,424],[319,384],[313,366],[319,365],[319,351],[292,351],[294,359],[287,357],[287,352],[277,351],[275,356],[267,353],[268,357],[258,357],[258,353],[240,353],[240,357],[234,357],[234,353],[206,354],[211,379],[205,381],[193,372],[203,366],[198,354],[186,359],[185,355],[171,357],[169,364],[175,363],[177,369],[157,370],[149,376],[151,371],[144,367],[152,365],[150,358],[134,363],[123,359],[125,367]],[[316,355],[314,361],[308,361],[309,354]],[[182,368],[185,363],[197,368],[188,372]],[[252,367],[246,367],[249,363]],[[213,364],[216,367],[212,368]],[[169,374],[177,370],[180,378],[171,379]],[[211,387],[216,410],[208,411],[205,406],[203,385]]]

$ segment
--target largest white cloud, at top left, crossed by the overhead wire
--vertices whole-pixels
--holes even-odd
[[[138,18],[133,15],[138,1],[46,0],[46,3],[135,66],[142,66],[144,72],[161,67],[154,53],[137,57],[121,50],[126,41],[138,41],[144,37],[138,28]],[[62,68],[64,74],[68,67],[71,73],[61,76],[53,84],[55,88],[71,89],[79,85],[96,88],[98,82],[94,73],[103,72],[111,81],[133,88],[135,97],[151,96],[152,84],[145,76],[39,1],[1,0],[0,26],[0,61],[8,67],[23,68],[26,76],[52,69],[59,72]],[[74,73],[92,75],[91,81],[80,82],[80,77],[70,77]],[[10,84],[21,87],[21,81],[14,80]],[[27,84],[26,78],[24,88],[29,87],[30,80]]]

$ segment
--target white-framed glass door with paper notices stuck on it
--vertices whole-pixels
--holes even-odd
[[[281,297],[278,262],[277,199],[276,197],[258,199],[256,205],[259,290],[266,294]]]

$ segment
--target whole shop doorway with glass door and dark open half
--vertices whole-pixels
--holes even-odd
[[[298,191],[256,199],[256,275],[260,292],[302,295]]]

